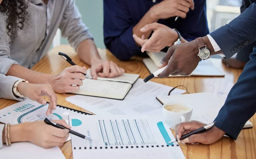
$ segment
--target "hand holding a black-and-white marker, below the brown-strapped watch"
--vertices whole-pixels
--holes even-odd
[[[158,68],[166,69],[161,72],[158,77],[164,78],[169,75],[190,75],[198,66],[201,58],[198,57],[198,44],[195,40],[189,43],[180,43],[171,46],[166,56],[162,59]]]

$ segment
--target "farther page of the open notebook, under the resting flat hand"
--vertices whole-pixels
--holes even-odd
[[[87,74],[92,78],[90,74],[90,69],[87,69]],[[113,77],[113,78],[104,78],[104,77],[97,77],[97,80],[104,80],[104,81],[117,81],[117,82],[126,82],[130,84],[134,84],[134,82],[140,77],[139,74],[132,74],[132,73],[124,73],[122,76]]]

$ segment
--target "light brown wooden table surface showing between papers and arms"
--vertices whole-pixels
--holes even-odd
[[[52,49],[46,57],[33,67],[33,70],[56,75],[65,67],[70,66],[70,64],[58,55],[59,51],[67,53],[67,55],[69,55],[79,66],[89,67],[79,60],[78,56],[70,46],[62,45]],[[99,52],[102,59],[115,62],[118,66],[125,69],[125,72],[140,74],[140,78],[145,78],[149,75],[148,69],[144,66],[142,58],[140,57],[135,57],[131,59],[131,61],[123,62],[116,59],[108,50],[99,49]],[[225,72],[225,77],[154,78],[152,81],[172,87],[184,85],[187,87],[189,93],[211,92],[216,95],[227,94],[231,87],[236,83],[242,70],[227,68],[221,64],[221,59],[214,59],[213,62],[219,69]],[[57,94],[57,96],[58,104],[87,112],[86,110],[65,101],[65,98],[71,96],[71,94]],[[0,109],[16,102],[17,101],[0,99]],[[250,121],[256,123],[256,116],[254,115]],[[236,141],[229,138],[223,138],[212,145],[181,144],[180,147],[187,159],[255,159],[256,127],[254,126],[252,129],[242,130]],[[60,148],[67,159],[73,159],[70,141],[66,142]]]

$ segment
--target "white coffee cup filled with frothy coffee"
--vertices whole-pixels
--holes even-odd
[[[189,107],[191,110],[185,113],[176,113],[165,109],[165,107],[169,105],[180,105],[183,107]],[[193,107],[191,105],[181,102],[169,102],[163,105],[163,118],[172,130],[175,130],[176,124],[189,121],[191,119],[192,112]]]

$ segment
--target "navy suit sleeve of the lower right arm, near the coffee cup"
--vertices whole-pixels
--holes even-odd
[[[216,127],[236,139],[244,124],[256,112],[256,47],[250,54],[237,83],[230,90],[224,106],[216,117]]]

